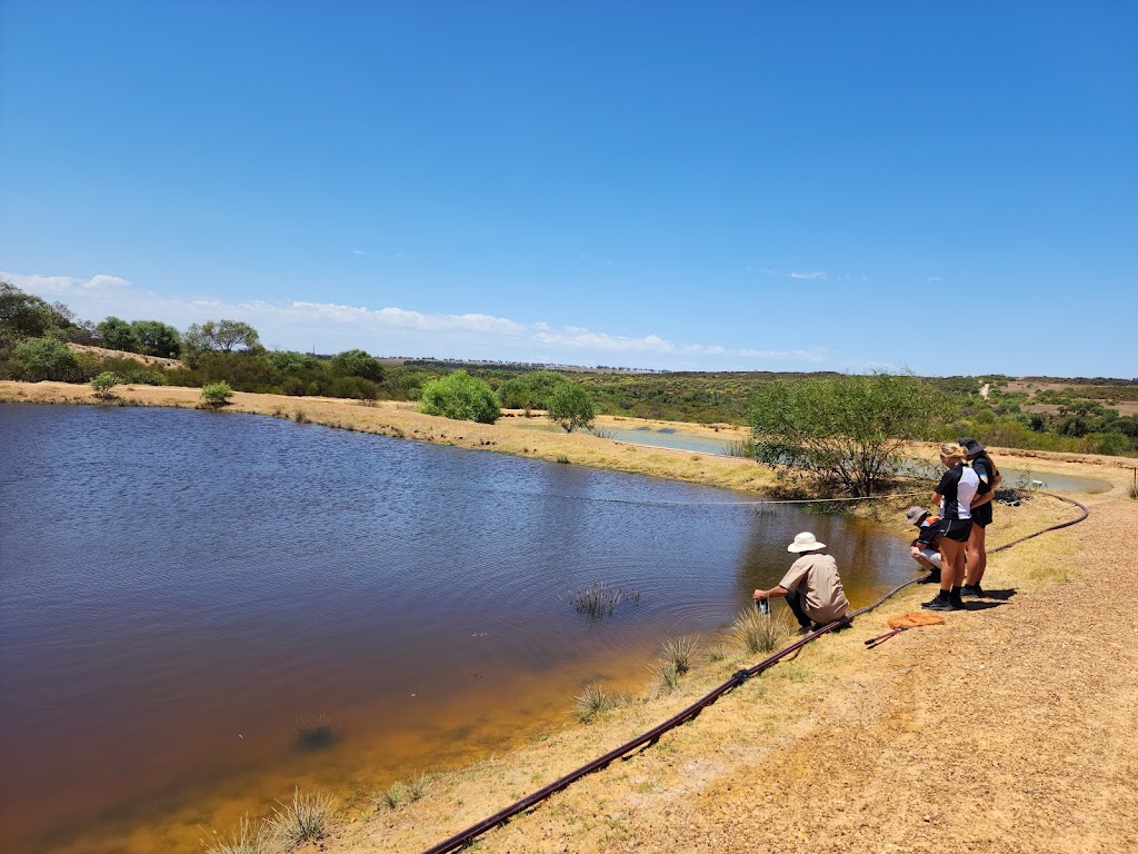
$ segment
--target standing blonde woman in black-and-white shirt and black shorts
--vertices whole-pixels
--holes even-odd
[[[972,499],[980,478],[964,465],[968,452],[955,442],[940,446],[940,461],[948,469],[932,494],[933,504],[940,506],[940,592],[922,608],[930,610],[960,610],[960,586],[964,584],[964,549],[972,533]]]

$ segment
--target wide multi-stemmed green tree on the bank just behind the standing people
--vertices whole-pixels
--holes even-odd
[[[866,496],[896,473],[902,444],[932,438],[942,412],[916,377],[871,373],[766,383],[748,414],[759,462]]]

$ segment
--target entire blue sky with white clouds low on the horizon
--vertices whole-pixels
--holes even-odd
[[[0,276],[91,320],[1138,376],[1130,2],[0,10]]]

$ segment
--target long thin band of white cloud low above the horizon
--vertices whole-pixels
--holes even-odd
[[[615,363],[644,368],[748,370],[780,362],[815,366],[830,360],[825,348],[764,350],[723,344],[676,343],[659,335],[615,335],[579,326],[538,320],[522,322],[493,314],[424,313],[386,306],[295,301],[231,302],[214,296],[171,298],[143,293],[125,279],[96,276],[22,276],[0,272],[0,279],[52,299],[64,299],[83,318],[101,320],[155,319],[184,329],[190,323],[222,318],[253,325],[269,346],[335,353],[363,347],[378,355],[567,364]]]

